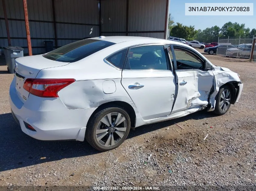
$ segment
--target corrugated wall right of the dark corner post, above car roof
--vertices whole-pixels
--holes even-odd
[[[128,4],[128,14],[127,14]],[[166,0],[106,0],[101,2],[104,36],[165,38]],[[128,26],[126,27],[128,18]]]

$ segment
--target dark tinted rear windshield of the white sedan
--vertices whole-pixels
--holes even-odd
[[[79,40],[46,53],[43,57],[59,62],[76,62],[113,44],[105,40]]]

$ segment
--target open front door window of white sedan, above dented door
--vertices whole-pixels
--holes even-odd
[[[178,48],[174,49],[174,53],[178,70],[203,69],[203,63],[194,54]]]

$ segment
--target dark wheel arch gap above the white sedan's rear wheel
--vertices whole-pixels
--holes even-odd
[[[135,114],[135,110],[133,109],[133,107],[127,103],[127,102],[124,102],[124,101],[110,101],[110,102],[107,102],[107,103],[103,103],[101,104],[90,116],[87,124],[90,122],[91,118],[95,115],[95,113],[99,112],[100,110],[104,109],[104,108],[107,108],[107,107],[113,107],[113,106],[119,106],[119,107],[123,107],[128,115],[130,116],[130,119],[131,119],[131,127],[135,127],[135,124],[136,124],[136,114]],[[87,126],[86,124],[86,126]]]

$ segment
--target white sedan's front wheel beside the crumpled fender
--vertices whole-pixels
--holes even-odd
[[[217,115],[224,115],[227,113],[231,104],[231,90],[228,86],[221,88],[215,98],[215,109],[214,113]]]

